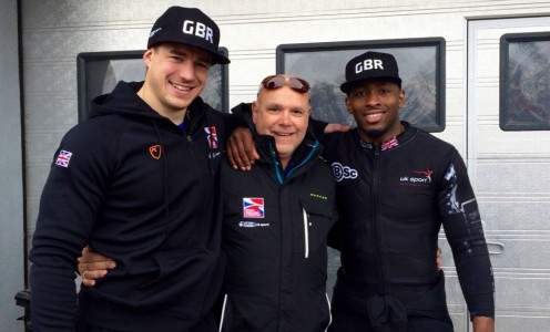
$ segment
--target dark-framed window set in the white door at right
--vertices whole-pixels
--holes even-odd
[[[500,38],[500,128],[550,129],[550,32]]]

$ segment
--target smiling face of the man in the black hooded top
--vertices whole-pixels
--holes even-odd
[[[187,106],[206,86],[211,55],[193,46],[164,43],[145,51],[143,60],[147,72],[138,94],[159,114],[182,123]]]

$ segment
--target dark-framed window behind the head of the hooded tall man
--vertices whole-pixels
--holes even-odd
[[[145,77],[143,53],[140,51],[86,52],[77,56],[79,121],[90,113],[90,102],[111,92],[119,81],[139,82]],[[227,55],[227,49],[220,48]],[[201,94],[212,107],[227,112],[228,66],[215,64],[208,72],[206,87]]]

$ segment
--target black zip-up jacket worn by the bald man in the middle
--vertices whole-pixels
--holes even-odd
[[[336,217],[330,168],[310,133],[286,172],[273,137],[255,141],[261,159],[251,172],[221,165],[227,257],[221,331],[325,331],[326,238]]]

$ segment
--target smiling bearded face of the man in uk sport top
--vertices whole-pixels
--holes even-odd
[[[364,81],[355,84],[346,97],[346,107],[357,122],[359,136],[379,144],[401,132],[399,108],[405,91],[389,81]]]

